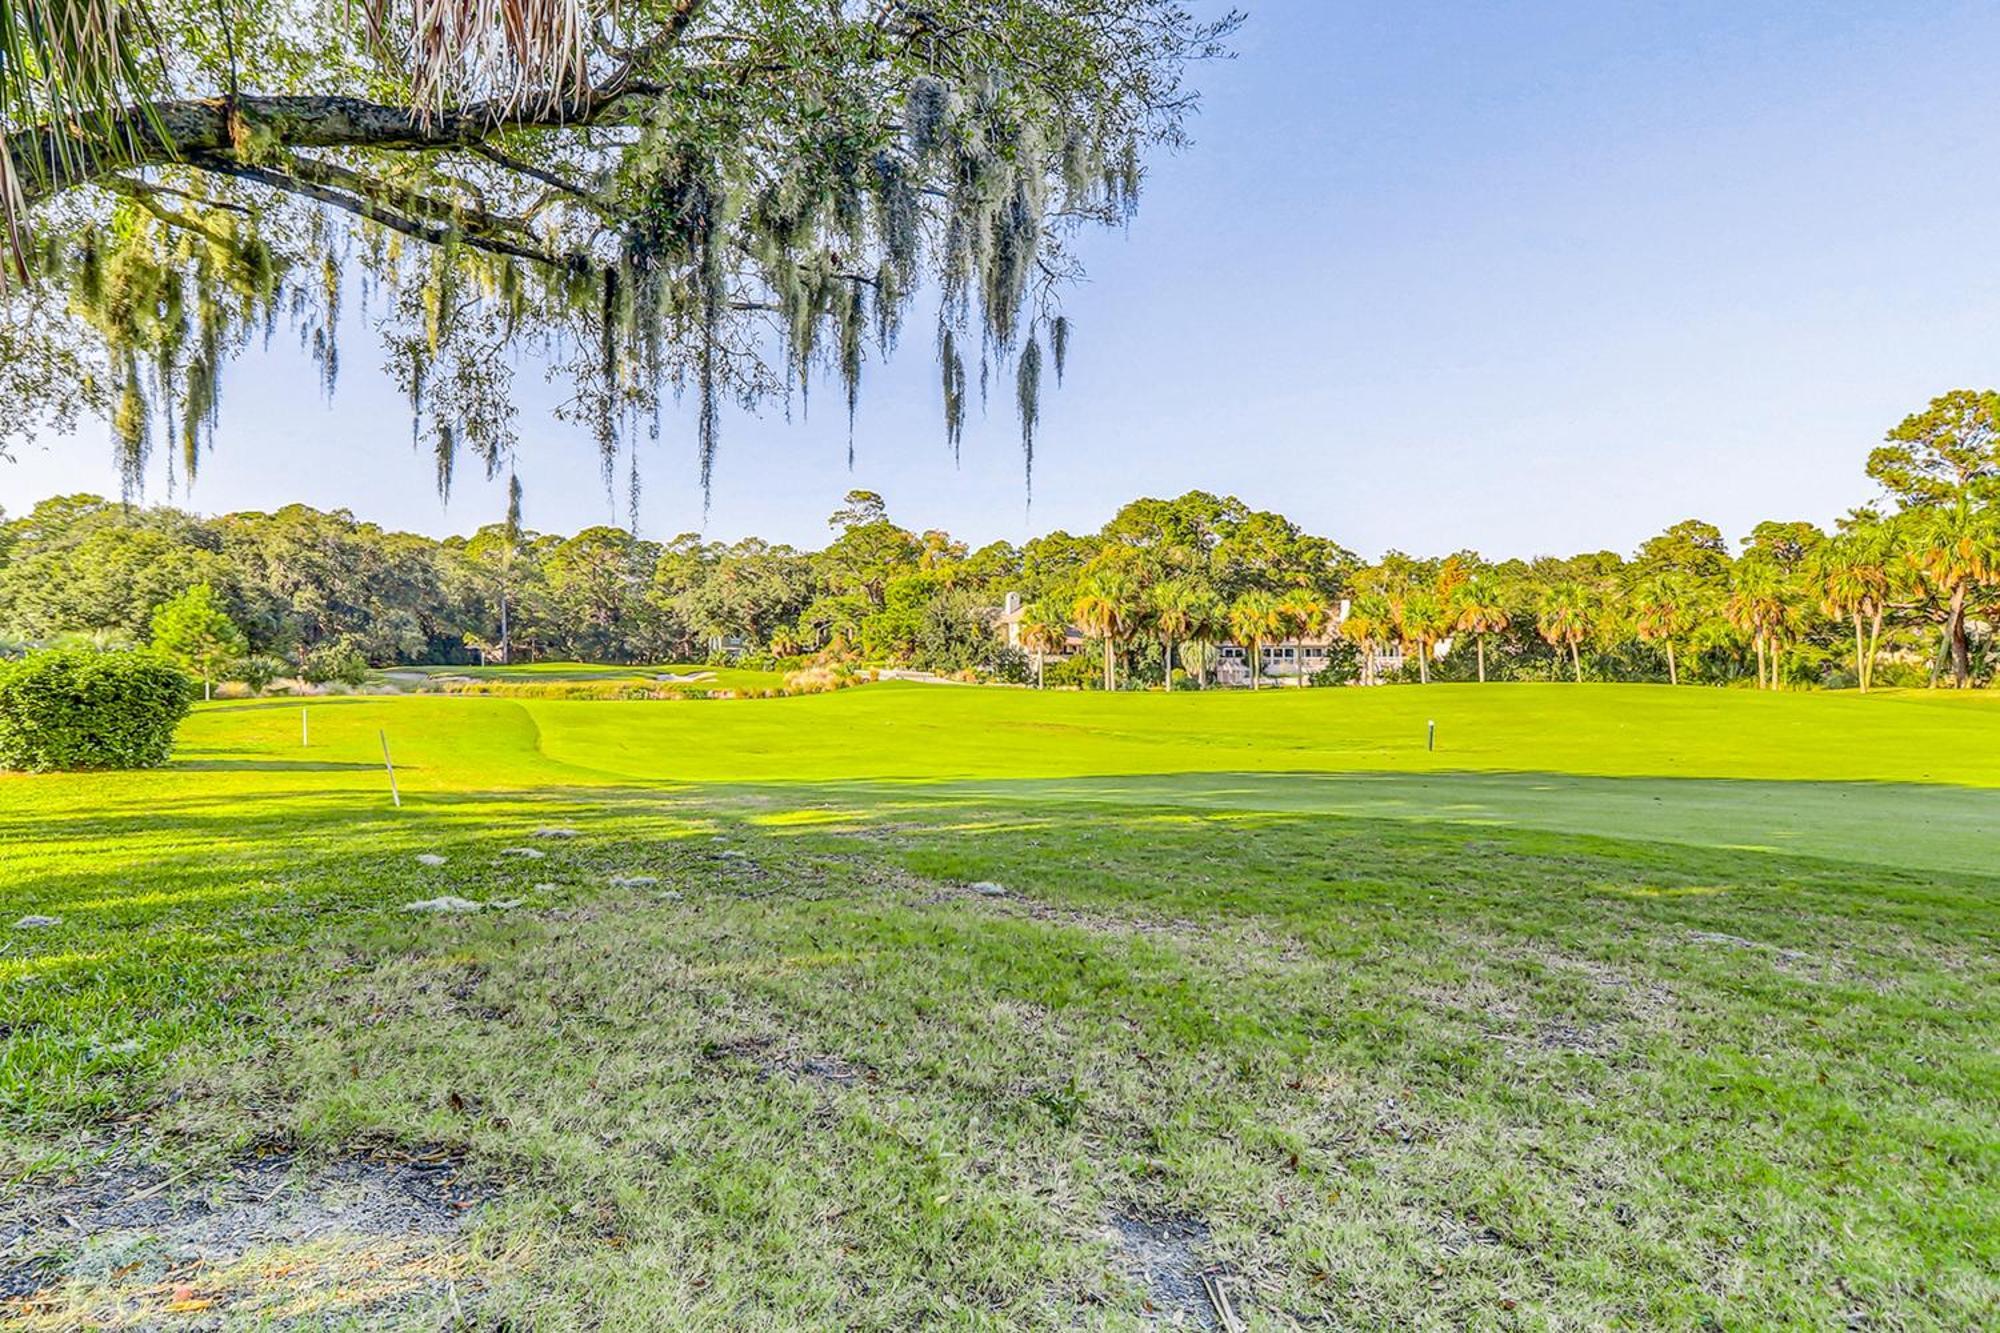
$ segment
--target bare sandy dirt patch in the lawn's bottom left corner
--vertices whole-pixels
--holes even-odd
[[[448,1153],[240,1157],[170,1175],[112,1161],[0,1207],[0,1319],[176,1329],[380,1315],[468,1289],[486,1191]]]

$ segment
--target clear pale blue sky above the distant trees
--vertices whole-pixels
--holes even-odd
[[[1630,550],[1686,516],[1828,522],[1888,426],[2000,380],[2000,6],[1244,8],[1238,58],[1196,70],[1196,146],[1082,244],[1032,516],[1012,394],[952,466],[916,314],[870,366],[852,474],[836,390],[804,422],[728,414],[708,534],[820,544],[868,486],[906,524],[1020,540],[1200,486],[1370,556]],[[440,504],[364,326],[342,352],[332,406],[284,338],[248,352],[180,500],[496,518],[476,466]],[[622,520],[538,380],[528,522]],[[8,510],[116,492],[98,426],[46,444],[0,464]],[[700,528],[684,418],[642,468],[642,532]]]

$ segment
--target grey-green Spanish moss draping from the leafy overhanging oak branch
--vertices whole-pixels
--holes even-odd
[[[566,98],[482,82],[492,72],[466,64],[472,30],[424,28],[414,12],[404,30],[384,22],[402,10],[370,4],[374,50],[392,52],[370,80],[406,72],[394,54],[426,58],[404,88],[418,124],[468,90],[500,96],[504,122],[386,150],[322,148],[338,136],[308,140],[290,122],[246,116],[232,120],[232,146],[206,156],[94,172],[64,196],[74,210],[12,246],[60,272],[62,318],[102,348],[94,406],[128,488],[144,484],[158,438],[194,480],[226,362],[258,332],[270,340],[280,316],[330,400],[354,280],[440,496],[470,452],[490,478],[508,472],[518,508],[516,350],[566,388],[558,416],[592,440],[608,500],[624,464],[634,526],[642,422],[658,440],[670,400],[692,408],[704,512],[726,394],[744,408],[784,394],[790,412],[794,386],[804,410],[820,376],[838,380],[854,468],[868,342],[886,360],[930,300],[952,458],[976,338],[982,410],[994,374],[1014,370],[1032,484],[1044,356],[1058,386],[1068,366],[1072,330],[1054,308],[1078,272],[1066,232],[1132,216],[1142,146],[1180,142],[1182,66],[1216,54],[1234,24],[1190,20],[1168,0],[1132,12],[940,0],[880,6],[868,20],[852,4],[544,8],[562,18],[560,50],[504,48],[508,68],[568,94],[590,88],[592,108],[618,102],[614,116],[570,122]],[[642,74],[610,64],[668,12],[676,40],[652,48]],[[960,22],[970,14],[980,22]],[[176,56],[198,80],[212,74],[202,54]],[[238,74],[246,98],[288,78],[256,60],[232,52],[226,94]],[[610,68],[616,90],[602,84]],[[340,94],[380,96],[360,82]],[[536,120],[558,102],[560,114]]]

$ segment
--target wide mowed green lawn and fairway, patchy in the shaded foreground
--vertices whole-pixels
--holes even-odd
[[[0,781],[0,915],[62,917],[4,935],[0,1169],[466,1153],[456,1287],[328,1323],[1138,1327],[1140,1217],[1258,1327],[1978,1327],[1996,705],[208,707],[170,769]],[[172,1289],[34,1245],[26,1327]]]

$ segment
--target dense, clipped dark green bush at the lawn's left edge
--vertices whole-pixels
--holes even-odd
[[[150,769],[194,683],[152,652],[56,648],[0,664],[0,769]]]

